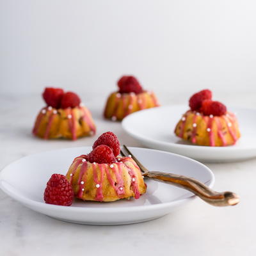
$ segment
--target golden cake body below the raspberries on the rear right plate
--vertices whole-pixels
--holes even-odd
[[[212,147],[234,145],[241,136],[233,113],[207,116],[191,110],[182,116],[175,127],[175,134],[194,144]]]

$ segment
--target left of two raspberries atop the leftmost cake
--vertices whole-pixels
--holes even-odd
[[[64,91],[61,88],[46,87],[43,93],[43,98],[47,106],[60,108],[63,94]]]

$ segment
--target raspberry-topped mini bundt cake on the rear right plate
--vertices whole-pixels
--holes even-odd
[[[210,90],[195,93],[189,99],[190,109],[175,127],[175,134],[201,146],[234,145],[241,136],[236,115],[211,98]]]

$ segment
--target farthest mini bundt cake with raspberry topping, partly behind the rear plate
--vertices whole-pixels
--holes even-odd
[[[123,76],[117,84],[118,92],[113,92],[108,97],[105,118],[120,121],[133,112],[159,106],[154,92],[143,90],[135,77]]]

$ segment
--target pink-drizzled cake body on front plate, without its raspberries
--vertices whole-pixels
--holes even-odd
[[[117,157],[115,163],[90,163],[86,155],[76,157],[67,179],[74,194],[82,200],[111,202],[140,198],[147,187],[140,168],[131,157]]]

